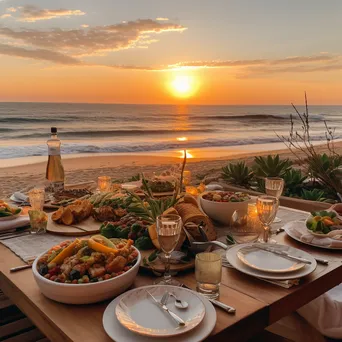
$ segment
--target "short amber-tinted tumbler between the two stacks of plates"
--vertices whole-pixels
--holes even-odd
[[[196,291],[210,299],[220,294],[222,258],[217,253],[199,253],[195,260]]]

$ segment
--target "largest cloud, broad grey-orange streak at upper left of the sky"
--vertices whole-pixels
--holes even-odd
[[[146,41],[141,38],[149,34],[163,32],[182,32],[186,27],[173,23],[160,23],[151,19],[138,19],[127,23],[107,26],[96,26],[73,30],[13,30],[0,27],[0,36],[11,39],[17,44],[35,46],[43,49],[51,49],[72,56],[97,55],[106,51],[116,51],[135,47],[144,41],[151,44],[154,41]]]

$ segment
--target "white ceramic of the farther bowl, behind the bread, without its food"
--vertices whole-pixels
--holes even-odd
[[[217,192],[220,193],[222,191],[208,191],[208,192]],[[208,201],[203,198],[205,194],[208,192],[202,193],[200,198],[200,204],[202,210],[213,220],[224,224],[229,225],[232,215],[235,210],[243,210],[248,211],[248,203],[252,200],[249,199],[244,202],[215,202],[215,201]]]

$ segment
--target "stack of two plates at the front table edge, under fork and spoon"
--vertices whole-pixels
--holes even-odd
[[[159,307],[146,292],[158,301],[166,291],[188,302],[187,309],[178,309],[169,298],[167,307],[181,317],[185,326],[177,323]],[[144,286],[115,298],[103,314],[103,327],[110,338],[120,342],[197,342],[204,340],[214,329],[216,311],[202,295],[175,286]]]

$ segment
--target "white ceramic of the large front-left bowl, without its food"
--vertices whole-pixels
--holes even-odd
[[[138,251],[138,250],[137,250]],[[42,253],[33,263],[34,279],[44,296],[56,302],[66,304],[89,304],[113,298],[127,290],[134,282],[141,263],[141,254],[138,251],[137,262],[127,272],[108,280],[88,284],[55,283],[45,279],[38,273],[37,263]]]

